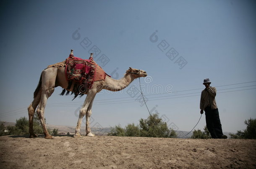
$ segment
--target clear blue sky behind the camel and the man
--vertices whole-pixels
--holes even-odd
[[[169,126],[190,131],[196,124],[204,78],[219,86],[216,101],[223,131],[245,129],[243,121],[256,118],[252,0],[8,0],[0,8],[0,121],[28,116],[26,107],[47,65],[65,60],[70,49],[87,59],[94,45],[101,51],[94,59],[104,54],[108,62],[97,63],[113,78],[123,77],[129,67],[148,73],[141,78],[147,105]],[[88,47],[81,45],[85,38]],[[169,50],[176,53],[171,59]],[[138,85],[138,79],[131,85]],[[91,127],[138,124],[149,116],[136,101],[138,94],[132,97],[127,90],[97,94]],[[48,99],[47,123],[76,126],[85,96],[71,101],[73,96],[60,92],[56,88]],[[205,125],[203,115],[196,128]]]

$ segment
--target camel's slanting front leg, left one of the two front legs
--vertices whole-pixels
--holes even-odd
[[[79,113],[79,118],[78,118],[78,122],[76,125],[76,133],[75,133],[74,137],[81,137],[80,128],[81,128],[82,119],[83,119],[84,115],[90,111],[90,107],[91,107],[91,104],[94,100],[96,93],[97,93],[96,91],[88,92],[86,99],[84,101],[84,104]],[[86,118],[86,125],[87,125],[87,118]],[[86,131],[86,133],[87,133],[87,131]]]

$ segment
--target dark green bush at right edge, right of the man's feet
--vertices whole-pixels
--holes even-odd
[[[238,130],[236,134],[229,134],[231,139],[256,139],[256,119],[248,119],[244,121],[246,129]]]

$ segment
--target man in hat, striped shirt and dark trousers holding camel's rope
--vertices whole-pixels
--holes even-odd
[[[209,130],[213,139],[227,139],[227,136],[223,135],[222,127],[219,120],[219,111],[215,101],[216,88],[211,87],[209,78],[204,79],[205,89],[201,93],[200,99],[200,113],[205,111],[206,127]]]

